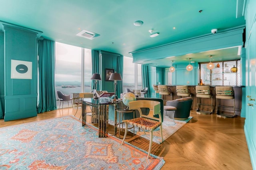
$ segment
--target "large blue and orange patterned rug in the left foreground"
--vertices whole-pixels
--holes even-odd
[[[161,157],[116,137],[98,138],[74,116],[0,128],[0,169],[160,169]]]

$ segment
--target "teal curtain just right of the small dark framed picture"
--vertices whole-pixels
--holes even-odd
[[[123,72],[124,72],[124,56],[123,55],[117,56],[116,72],[121,74],[121,77],[123,78]],[[122,92],[123,92],[123,81],[117,81],[116,94],[118,98],[120,98],[120,94]]]

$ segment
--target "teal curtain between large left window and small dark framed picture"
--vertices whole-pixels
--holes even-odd
[[[97,51],[97,50],[92,50],[92,74],[94,73],[98,73],[100,74],[100,52]],[[101,79],[102,79],[102,75],[101,76]],[[92,89],[96,89],[95,87],[95,81],[96,80],[92,80],[91,81],[91,87]],[[97,80],[97,89],[96,90],[100,90],[100,82],[99,80]]]

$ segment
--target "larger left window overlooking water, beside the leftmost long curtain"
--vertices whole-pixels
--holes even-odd
[[[56,42],[55,48],[55,89],[66,95],[71,94],[71,97],[73,93],[90,92],[90,77],[92,76],[91,50],[58,42]],[[58,98],[57,106],[59,106]]]

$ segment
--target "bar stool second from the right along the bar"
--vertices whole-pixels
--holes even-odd
[[[197,109],[196,113],[200,114],[212,114],[213,107],[212,107],[212,93],[210,91],[210,86],[196,86],[196,97],[197,97]],[[199,103],[200,98],[200,103]],[[211,104],[202,104],[201,98],[211,98]],[[211,106],[211,111],[199,111],[199,105],[206,105]]]

